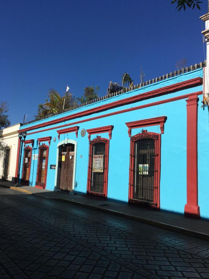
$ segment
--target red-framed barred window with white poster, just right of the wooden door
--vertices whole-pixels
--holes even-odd
[[[96,137],[90,141],[87,194],[107,195],[109,140]]]

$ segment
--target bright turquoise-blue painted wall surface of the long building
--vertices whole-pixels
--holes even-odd
[[[84,111],[85,109],[94,108],[102,104],[108,104],[116,100],[127,98],[128,96],[137,95],[143,92],[154,90],[162,86],[174,84],[187,79],[202,77],[202,69],[186,73],[181,76],[158,82],[154,85],[145,86],[141,89],[137,89],[126,94],[115,96],[107,100],[94,103],[74,111],[63,113],[54,117],[50,117],[45,120],[41,120],[35,123],[31,123],[22,126],[22,129],[29,126],[37,125],[42,122],[50,121],[71,115],[73,113]],[[172,211],[175,213],[184,213],[184,206],[186,204],[186,102],[185,99],[177,100],[174,102],[168,102],[165,104],[154,105],[142,109],[133,110],[130,112],[111,115],[109,117],[103,117],[95,120],[84,121],[78,124],[72,124],[71,126],[78,125],[80,129],[78,131],[78,138],[76,138],[75,132],[60,135],[60,140],[57,138],[56,130],[62,128],[56,128],[59,125],[69,124],[76,121],[83,121],[85,119],[101,116],[107,113],[113,113],[126,108],[133,108],[144,104],[158,102],[173,97],[201,91],[202,86],[196,86],[174,92],[172,94],[152,98],[136,102],[134,104],[123,105],[118,108],[109,109],[105,112],[94,113],[89,116],[79,117],[66,122],[54,124],[40,130],[55,127],[53,130],[43,131],[27,135],[27,139],[35,139],[34,148],[37,148],[37,138],[51,136],[51,145],[49,148],[49,161],[48,161],[48,173],[46,188],[54,190],[55,188],[55,170],[50,170],[50,164],[56,164],[57,156],[57,144],[64,139],[73,139],[77,142],[77,154],[76,154],[76,176],[75,191],[77,193],[86,193],[87,186],[87,172],[88,172],[88,154],[89,154],[89,141],[88,134],[85,137],[81,137],[80,131],[82,128],[85,130],[92,129],[100,126],[113,125],[112,139],[110,139],[109,149],[109,172],[108,172],[108,188],[107,198],[110,200],[117,200],[119,202],[128,202],[128,181],[129,181],[129,155],[130,155],[130,138],[128,136],[128,127],[125,122],[131,122],[136,120],[142,120],[158,116],[167,116],[168,119],[165,123],[164,134],[161,135],[161,177],[160,177],[160,208],[161,210]],[[200,96],[201,98],[201,96]],[[204,112],[199,105],[198,113],[198,183],[199,183],[199,205],[201,216],[208,218],[207,201],[207,181],[209,181],[207,162],[209,158],[209,151],[207,148],[207,137],[209,135],[208,130],[208,113]],[[207,128],[206,128],[207,126]],[[150,132],[160,133],[158,126],[143,127]],[[132,129],[132,135],[141,132],[142,128]],[[37,130],[34,130],[37,131]],[[29,131],[28,133],[33,132]],[[109,139],[108,133],[98,134],[101,137]],[[93,139],[96,135],[91,135]],[[53,142],[53,138],[56,137],[56,142]],[[46,142],[46,144],[48,144]],[[201,151],[202,150],[202,151]],[[33,150],[33,153],[38,153],[38,150]],[[22,166],[22,163],[21,163]],[[32,160],[30,185],[35,185],[36,182],[36,170],[37,161]],[[206,174],[207,173],[207,174]],[[207,191],[208,193],[208,191]]]

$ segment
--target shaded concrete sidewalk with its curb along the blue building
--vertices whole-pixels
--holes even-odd
[[[182,215],[171,214],[162,211],[143,209],[138,206],[122,204],[112,201],[103,201],[80,195],[63,192],[54,192],[31,186],[14,187],[14,184],[0,181],[0,186],[12,188],[27,194],[39,197],[68,202],[77,206],[88,207],[93,210],[107,212],[120,217],[133,219],[155,227],[179,232],[191,237],[209,241],[209,221],[185,218]]]

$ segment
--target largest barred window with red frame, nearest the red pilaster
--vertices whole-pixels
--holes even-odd
[[[129,202],[157,207],[159,135],[142,130],[131,137]]]

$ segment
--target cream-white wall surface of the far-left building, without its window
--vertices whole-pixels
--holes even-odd
[[[3,139],[5,145],[10,147],[10,164],[8,181],[15,182],[15,169],[17,160],[17,147],[18,147],[18,130],[20,130],[20,123],[3,129]],[[3,175],[3,156],[0,157],[0,179]]]

